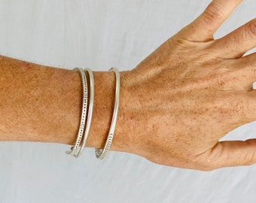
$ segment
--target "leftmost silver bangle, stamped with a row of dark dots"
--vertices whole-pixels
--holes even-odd
[[[66,151],[66,153],[72,156],[77,156],[77,150],[81,143],[81,139],[84,135],[84,124],[85,124],[86,115],[87,115],[88,91],[87,91],[87,77],[86,77],[86,74],[84,73],[84,70],[82,68],[74,68],[74,70],[77,70],[81,75],[81,79],[83,83],[83,105],[82,105],[82,111],[81,111],[81,122],[78,130],[78,138],[75,141],[75,145],[71,147],[70,151]]]

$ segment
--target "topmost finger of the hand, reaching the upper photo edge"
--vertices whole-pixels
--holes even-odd
[[[179,32],[189,41],[211,41],[219,26],[242,0],[213,0],[193,23]]]

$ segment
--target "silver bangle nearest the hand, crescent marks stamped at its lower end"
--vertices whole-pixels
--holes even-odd
[[[103,149],[95,149],[95,154],[97,159],[104,159],[107,156],[108,151],[111,147],[112,140],[114,138],[114,129],[117,123],[117,111],[119,106],[119,97],[120,97],[120,73],[117,68],[111,68],[109,71],[114,71],[116,87],[115,87],[115,98],[114,98],[114,112],[111,121],[111,126],[108,132],[108,138]]]

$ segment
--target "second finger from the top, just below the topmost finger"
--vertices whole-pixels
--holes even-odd
[[[256,18],[215,41],[213,48],[221,58],[235,59],[256,47]]]

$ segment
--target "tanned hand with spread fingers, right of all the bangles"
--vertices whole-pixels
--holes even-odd
[[[122,150],[204,171],[256,162],[256,139],[219,141],[256,120],[256,53],[243,56],[256,45],[256,20],[213,38],[240,2],[214,0],[133,71],[121,74],[117,132],[126,138],[114,139]]]

